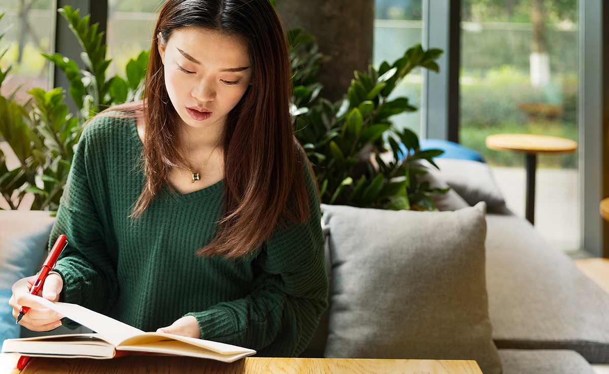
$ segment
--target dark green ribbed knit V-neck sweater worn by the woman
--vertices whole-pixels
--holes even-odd
[[[115,113],[116,115],[116,113]],[[217,230],[222,181],[179,194],[169,186],[139,221],[128,216],[144,186],[143,145],[132,118],[97,116],[79,141],[51,243],[63,300],[144,331],[194,316],[203,339],[297,356],[327,306],[318,192],[308,168],[311,217],[281,228],[239,261],[195,252]]]

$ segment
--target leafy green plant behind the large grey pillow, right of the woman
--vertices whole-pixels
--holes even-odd
[[[288,40],[294,67],[295,133],[313,164],[322,202],[434,210],[431,196],[448,190],[420,183],[417,177],[426,171],[419,161],[427,160],[437,168],[432,158],[443,151],[421,150],[415,133],[396,129],[390,117],[416,108],[406,97],[390,100],[389,95],[417,66],[437,72],[435,60],[442,51],[423,51],[417,45],[392,65],[382,62],[378,70],[370,65],[368,72],[355,71],[346,97],[330,102],[318,98],[322,85],[316,82],[315,74],[323,56],[314,38],[294,29]],[[389,161],[382,157],[386,151]]]

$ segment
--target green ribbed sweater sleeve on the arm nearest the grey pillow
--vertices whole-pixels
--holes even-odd
[[[305,350],[328,304],[319,196],[312,175],[305,175],[311,217],[266,242],[254,263],[252,292],[186,314],[197,318],[203,339],[252,348],[261,356],[295,357]]]

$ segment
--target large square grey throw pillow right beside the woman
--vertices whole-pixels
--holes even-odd
[[[325,357],[473,359],[499,374],[485,204],[450,212],[322,205],[333,292]]]

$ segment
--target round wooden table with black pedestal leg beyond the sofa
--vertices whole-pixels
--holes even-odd
[[[526,218],[535,221],[535,169],[537,153],[569,153],[577,149],[577,143],[556,136],[532,134],[495,134],[487,136],[487,147],[493,150],[511,150],[526,155],[527,200]]]

